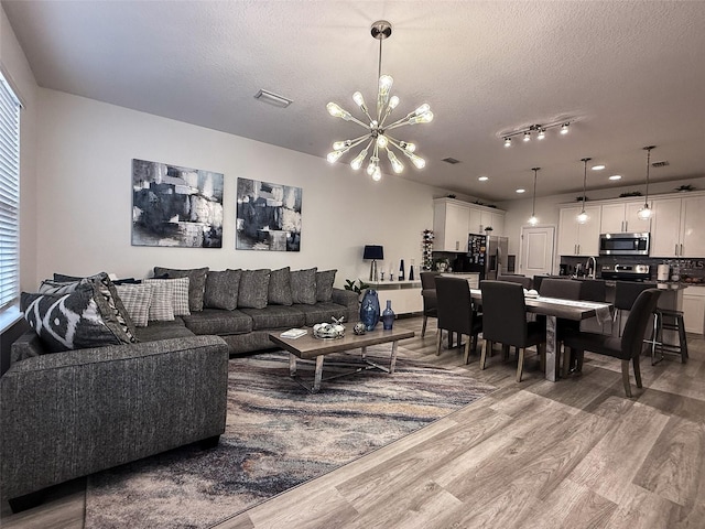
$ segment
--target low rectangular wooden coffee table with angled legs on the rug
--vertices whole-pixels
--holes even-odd
[[[300,338],[282,338],[280,333],[270,333],[269,339],[274,342],[284,350],[289,352],[289,374],[301,384],[304,388],[306,388],[312,393],[317,392],[321,389],[321,381],[323,379],[323,360],[326,355],[330,353],[341,353],[350,349],[361,349],[361,363],[358,363],[358,367],[354,370],[346,371],[343,374],[337,374],[330,377],[325,378],[325,380],[330,380],[333,378],[338,378],[341,376],[350,375],[354,373],[359,373],[367,369],[381,369],[382,371],[389,373],[390,375],[394,374],[394,365],[397,364],[397,348],[400,339],[404,338],[413,338],[414,332],[406,331],[402,328],[392,328],[390,331],[384,331],[381,328],[381,325],[375,331],[368,331],[367,334],[356,335],[356,334],[347,334],[343,338],[333,338],[333,339],[321,339],[315,338],[313,336],[313,330],[308,330],[308,334],[305,336],[301,336]],[[380,366],[373,361],[370,361],[366,358],[367,347],[370,345],[378,344],[392,344],[391,352],[391,360],[389,368],[384,366]],[[301,358],[304,360],[314,360],[316,361],[316,370],[314,375],[313,386],[307,385],[300,377],[296,376],[296,359]]]

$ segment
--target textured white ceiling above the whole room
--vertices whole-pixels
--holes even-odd
[[[705,175],[705,2],[692,1],[2,1],[37,83],[325,158],[361,129],[334,100],[375,100],[379,43],[397,111],[429,102],[430,125],[395,137],[427,160],[403,177],[488,201],[643,188]],[[259,89],[294,100],[257,101]],[[361,117],[361,116],[360,116]],[[502,132],[574,118],[571,133],[502,147]],[[462,163],[449,165],[452,156]],[[348,162],[351,155],[344,156]],[[388,170],[387,160],[382,169]],[[350,172],[352,172],[350,170]],[[478,182],[487,175],[489,181]],[[368,177],[365,173],[351,177]]]

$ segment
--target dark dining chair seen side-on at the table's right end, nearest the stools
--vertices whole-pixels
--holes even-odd
[[[631,387],[629,385],[629,360],[631,360],[637,387],[641,388],[639,357],[644,347],[643,336],[649,324],[649,317],[657,306],[660,294],[661,291],[658,289],[647,289],[639,294],[631,306],[621,337],[582,332],[567,334],[563,344],[566,348],[575,352],[577,370],[579,371],[583,368],[586,350],[619,358],[621,360],[621,379],[625,385],[625,393],[627,393],[627,397],[631,397]]]

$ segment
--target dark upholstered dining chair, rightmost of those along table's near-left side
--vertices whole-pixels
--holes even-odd
[[[507,281],[482,281],[482,337],[485,345],[480,355],[480,369],[485,369],[492,344],[519,349],[517,381],[521,382],[527,347],[536,346],[539,355],[545,356],[545,323],[527,322],[527,304],[521,284]],[[542,360],[541,365],[544,365]]]

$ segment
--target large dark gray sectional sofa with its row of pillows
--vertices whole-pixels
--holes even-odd
[[[0,378],[0,495],[33,493],[225,431],[228,358],[270,332],[344,317],[335,270],[178,270],[112,282],[55,274],[23,293],[31,331]],[[117,284],[116,284],[117,283]]]

